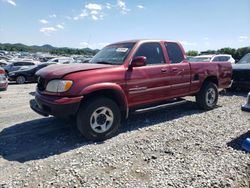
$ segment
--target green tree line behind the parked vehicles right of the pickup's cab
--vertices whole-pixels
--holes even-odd
[[[203,52],[198,51],[188,51],[186,54],[188,56],[197,56],[197,55],[205,55],[205,54],[230,54],[232,57],[238,61],[240,60],[245,54],[250,53],[250,47],[243,47],[243,48],[221,48],[219,50],[207,50]]]

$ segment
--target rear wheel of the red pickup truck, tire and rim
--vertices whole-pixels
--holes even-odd
[[[211,110],[217,105],[218,95],[217,85],[212,82],[205,82],[196,95],[196,103],[203,110]]]

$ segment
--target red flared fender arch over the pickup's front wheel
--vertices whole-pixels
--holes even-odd
[[[123,104],[124,104],[124,109],[126,111],[125,117],[128,118],[128,114],[129,114],[129,108],[128,108],[128,100],[127,97],[122,89],[122,87],[116,83],[110,83],[110,82],[104,82],[104,83],[96,83],[93,85],[89,85],[87,87],[85,87],[80,94],[81,95],[88,95],[94,92],[98,92],[101,90],[112,90],[114,92],[116,92],[122,99]]]

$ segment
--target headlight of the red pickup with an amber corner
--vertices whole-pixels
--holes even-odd
[[[46,86],[46,91],[61,93],[68,91],[72,85],[71,80],[51,80]]]

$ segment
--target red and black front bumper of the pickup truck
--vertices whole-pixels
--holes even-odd
[[[36,92],[35,99],[30,101],[30,107],[36,113],[42,116],[53,115],[56,117],[65,117],[75,115],[81,104],[80,97],[55,97],[43,96]]]

